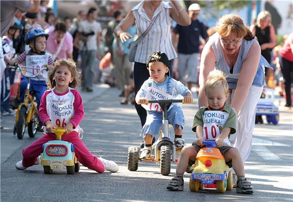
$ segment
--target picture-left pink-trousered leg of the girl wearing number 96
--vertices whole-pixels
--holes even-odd
[[[35,142],[33,142],[30,146],[23,149],[22,151],[22,165],[24,167],[30,167],[34,165],[37,160],[37,157],[42,153],[42,146],[44,143],[48,141],[56,140],[56,136],[54,134],[44,134],[43,137],[39,138]]]

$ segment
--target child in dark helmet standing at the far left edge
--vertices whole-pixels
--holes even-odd
[[[3,37],[3,50],[4,50],[4,60],[6,62],[6,66],[14,56],[15,49],[13,47],[13,41],[17,39],[19,36],[20,30],[23,30],[23,26],[20,21],[15,19],[14,24],[9,28],[6,36]],[[5,68],[4,76],[2,78],[2,86],[1,86],[1,114],[2,116],[14,116],[16,112],[10,107],[10,86],[14,82],[15,71],[11,69]]]

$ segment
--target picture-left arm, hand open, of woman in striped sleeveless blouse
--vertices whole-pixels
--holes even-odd
[[[129,11],[124,20],[114,29],[114,34],[121,39],[122,43],[125,42],[127,39],[132,38],[132,36],[126,31],[131,25],[134,24],[134,22],[135,19],[133,13],[132,11]]]

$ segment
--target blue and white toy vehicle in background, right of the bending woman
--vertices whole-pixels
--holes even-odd
[[[279,122],[279,108],[274,104],[274,101],[274,90],[265,88],[262,97],[257,103],[256,116],[265,115],[268,123],[276,125]]]

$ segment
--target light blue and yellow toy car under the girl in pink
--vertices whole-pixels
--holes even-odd
[[[45,174],[51,174],[53,170],[62,170],[66,167],[67,174],[78,172],[80,163],[75,157],[74,145],[72,143],[62,141],[61,137],[65,128],[58,127],[53,129],[57,136],[57,140],[49,141],[43,144],[43,153],[41,155],[41,165]]]

